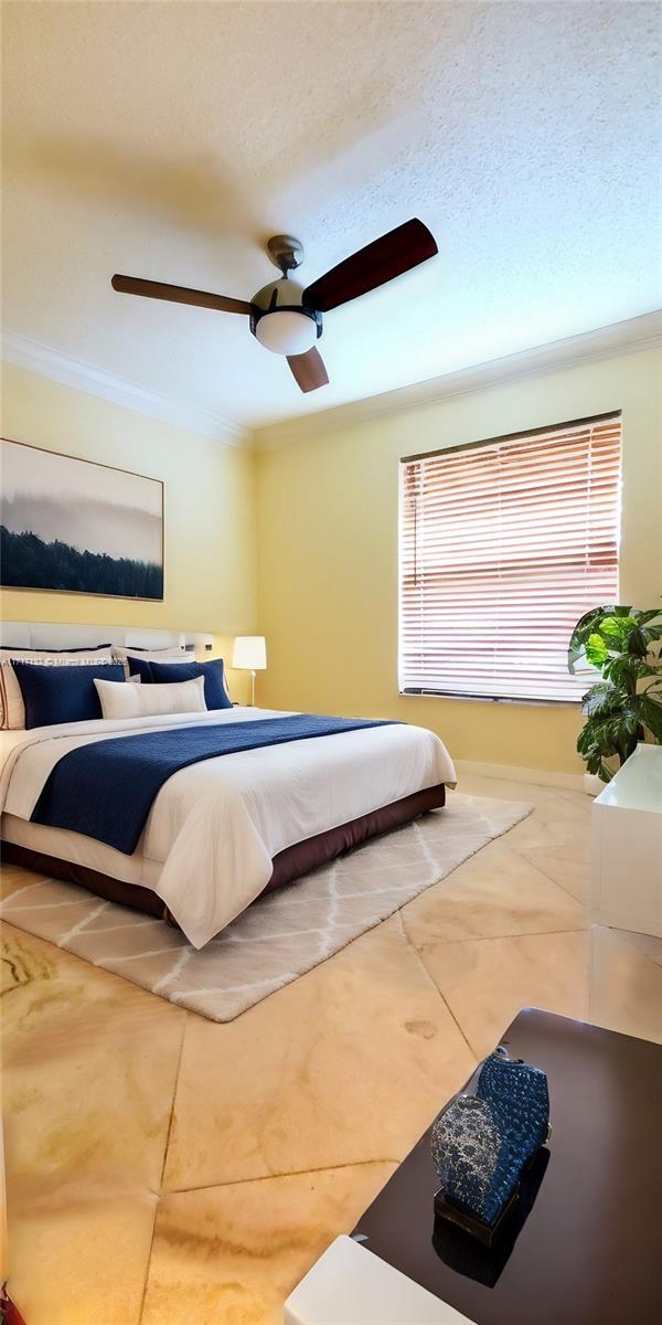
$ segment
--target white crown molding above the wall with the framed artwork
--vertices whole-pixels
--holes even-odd
[[[75,359],[73,355],[65,354],[64,350],[54,350],[52,346],[32,341],[19,331],[4,329],[1,348],[3,359],[13,363],[17,368],[28,368],[30,372],[50,378],[65,387],[74,387],[90,396],[113,400],[114,404],[136,409],[152,419],[175,423],[189,432],[200,433],[203,437],[222,441],[226,447],[250,447],[250,435],[246,429],[237,427],[212,409],[173,400],[171,396],[162,395],[160,391],[151,391],[138,382],[131,382],[130,378],[107,372],[106,368],[98,368],[93,363],[86,363],[85,359]]]

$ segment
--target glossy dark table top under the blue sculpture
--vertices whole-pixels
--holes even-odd
[[[535,1008],[502,1044],[549,1081],[549,1158],[519,1231],[489,1249],[438,1222],[433,1246],[426,1132],[355,1235],[477,1325],[662,1321],[662,1045]]]

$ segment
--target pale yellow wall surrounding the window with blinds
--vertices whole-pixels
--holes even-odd
[[[458,759],[581,772],[576,706],[399,696],[397,462],[622,409],[621,599],[649,606],[662,592],[659,386],[661,355],[642,351],[351,425],[311,419],[305,437],[262,453],[260,702],[400,718],[438,731]],[[258,443],[267,440],[263,431]]]

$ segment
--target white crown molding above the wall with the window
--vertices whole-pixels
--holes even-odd
[[[318,413],[308,413],[281,423],[265,424],[253,431],[253,444],[257,450],[277,450],[293,441],[306,437],[319,437],[335,428],[347,428],[356,423],[396,415],[408,409],[420,409],[454,396],[465,396],[487,387],[496,387],[518,378],[536,378],[549,370],[561,371],[577,363],[592,363],[612,359],[617,354],[638,354],[662,344],[662,309],[629,318],[626,322],[613,322],[610,326],[581,335],[552,341],[548,344],[522,350],[503,359],[491,359],[471,368],[448,372],[441,378],[430,378],[409,387],[387,391],[381,395],[352,400]]]

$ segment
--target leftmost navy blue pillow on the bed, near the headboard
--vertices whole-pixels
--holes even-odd
[[[54,722],[86,722],[101,718],[101,702],[94,678],[123,681],[120,662],[66,664],[12,662],[25,705],[26,727],[49,727]]]

